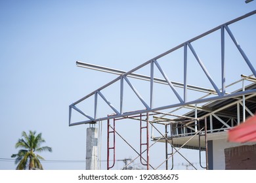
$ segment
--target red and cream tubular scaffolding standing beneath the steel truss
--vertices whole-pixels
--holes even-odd
[[[187,142],[185,142],[182,146],[180,146],[178,149],[177,149],[177,147],[175,147],[174,145],[173,145],[173,133],[171,133],[171,136],[168,136],[167,134],[168,134],[168,131],[167,131],[167,128],[168,128],[168,126],[170,127],[170,131],[173,131],[173,127],[172,127],[172,125],[173,125],[173,122],[167,122],[166,120],[165,120],[165,123],[162,123],[162,121],[161,121],[161,123],[156,123],[156,121],[150,121],[150,120],[148,120],[149,119],[149,116],[150,115],[155,115],[155,114],[159,114],[158,112],[156,112],[156,113],[152,113],[152,114],[140,114],[140,115],[137,115],[137,116],[127,116],[126,118],[123,118],[123,117],[121,117],[121,118],[114,118],[113,119],[113,125],[110,125],[110,120],[108,120],[108,159],[107,159],[107,169],[109,170],[109,169],[112,169],[113,167],[114,167],[114,163],[115,163],[115,159],[116,159],[116,153],[115,153],[115,149],[116,149],[116,144],[115,144],[115,135],[117,134],[119,137],[121,137],[121,139],[123,139],[123,141],[126,143],[126,144],[128,144],[133,150],[134,150],[134,152],[136,152],[137,153],[137,157],[135,158],[135,159],[137,159],[137,158],[140,158],[140,163],[142,164],[142,165],[145,165],[146,166],[146,169],[154,169],[154,170],[156,170],[156,169],[158,169],[159,167],[161,167],[161,165],[163,165],[164,163],[165,163],[165,169],[168,169],[168,160],[171,158],[172,159],[172,161],[171,161],[171,163],[172,163],[172,165],[171,165],[171,169],[173,169],[173,156],[174,156],[174,154],[176,154],[176,153],[179,153],[181,156],[182,156],[182,154],[179,152],[179,150],[182,148],[182,147],[184,147],[185,145],[186,145],[186,143],[188,143],[191,139],[193,139],[194,137],[196,137],[196,135],[199,135],[200,137],[201,136],[204,136],[205,137],[205,146],[204,147],[201,147],[201,144],[200,144],[200,138],[199,138],[199,146],[200,146],[200,154],[201,154],[201,152],[202,152],[202,150],[204,150],[205,151],[205,154],[206,154],[206,157],[207,157],[207,131],[205,131],[205,129],[206,129],[206,125],[207,125],[207,122],[206,122],[206,118],[205,118],[205,123],[204,123],[204,125],[203,126],[201,126],[202,128],[200,128],[200,123],[198,122],[198,131],[196,131],[196,133],[194,134],[194,135],[192,135],[191,137],[190,137],[190,139],[188,139],[188,141]],[[171,115],[171,114],[169,114],[169,115]],[[144,117],[144,116],[146,116],[146,118],[145,119],[143,119],[142,117]],[[131,120],[139,120],[139,122],[140,122],[140,152],[138,152],[137,150],[135,150],[135,148],[133,147],[133,146],[131,146],[131,144],[129,144],[129,142],[127,142],[127,141],[125,141],[125,139],[116,131],[116,127],[115,127],[115,123],[116,123],[116,120],[123,120],[123,119],[131,119]],[[191,121],[191,120],[190,120]],[[198,121],[198,119],[196,120],[196,121]],[[145,124],[144,125],[142,125],[142,122],[145,122]],[[167,122],[167,123],[166,123]],[[187,122],[187,121],[186,121]],[[186,122],[182,122],[183,124],[185,124]],[[161,124],[161,125],[164,125],[165,126],[165,133],[164,134],[162,134],[161,132],[160,132],[160,130],[156,127],[156,124]],[[177,123],[176,123],[177,124]],[[154,129],[156,129],[160,134],[161,134],[161,137],[156,137],[156,138],[154,138],[154,143],[153,144],[149,144],[149,126],[152,126],[152,127],[154,127]],[[191,126],[191,125],[190,125]],[[182,128],[182,127],[175,127],[174,129],[179,129],[179,128]],[[146,136],[146,137],[143,137],[143,135],[142,135],[142,130],[145,130],[146,131],[146,133],[145,133],[145,135],[144,136]],[[112,133],[113,134],[113,137],[114,138],[112,138],[112,146],[110,146],[109,144],[110,144],[110,136],[109,136],[109,134],[110,133]],[[143,141],[143,138],[144,138],[144,141]],[[146,140],[145,140],[146,139]],[[149,156],[149,150],[150,150],[150,148],[154,145],[154,144],[156,144],[156,142],[159,142],[159,141],[165,141],[165,161],[163,161],[162,163],[160,163],[160,165],[158,165],[157,167],[153,167],[152,165],[150,165],[150,156]],[[169,153],[168,152],[168,145],[169,146],[171,146],[171,153]],[[146,148],[144,148],[144,150],[143,150],[143,148],[142,148],[142,146],[146,146]],[[113,160],[113,164],[112,165],[110,165],[110,161],[112,161],[112,159],[110,159],[110,153],[112,152],[112,159],[114,159]],[[146,157],[144,158],[143,157],[143,154],[144,153],[146,153]],[[184,156],[182,156],[182,158],[184,158],[184,159],[186,159]],[[127,166],[128,165],[130,165],[131,163],[133,163],[133,161],[135,161],[135,159],[132,159],[131,161],[130,161],[130,163],[128,163],[127,165],[125,165],[125,167],[123,167],[123,169],[125,169],[125,168],[127,168]],[[186,159],[186,161],[189,163],[189,165],[191,165],[192,167],[194,167],[194,165],[190,162],[190,161],[188,161],[188,159]],[[207,159],[205,159],[205,161],[207,161]],[[205,167],[203,167],[202,166],[202,163],[201,163],[201,158],[200,158],[200,165],[201,165],[201,167],[202,168],[204,168],[204,169],[207,169],[207,163],[206,163],[206,166]],[[194,167],[194,169],[196,169],[196,167]]]

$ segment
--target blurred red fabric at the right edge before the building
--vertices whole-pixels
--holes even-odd
[[[230,142],[256,142],[256,115],[228,130]]]

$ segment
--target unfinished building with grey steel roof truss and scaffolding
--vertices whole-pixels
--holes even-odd
[[[106,169],[115,166],[117,136],[137,154],[130,163],[138,158],[146,169],[173,169],[175,154],[186,159],[181,148],[198,150],[204,169],[256,169],[255,142],[227,141],[228,129],[256,111],[255,51],[246,49],[252,44],[240,45],[232,31],[242,27],[245,19],[255,24],[255,13],[219,25],[130,71],[77,61],[79,67],[117,78],[72,103],[69,125],[107,123]],[[255,35],[250,38],[255,44]],[[209,51],[200,53],[200,45]],[[74,113],[84,120],[77,121]],[[120,120],[139,124],[139,147],[118,133]],[[89,144],[98,144],[93,141]],[[158,165],[150,163],[149,152],[155,143],[165,144],[160,150],[165,152],[164,161]],[[123,169],[127,166],[125,162]]]

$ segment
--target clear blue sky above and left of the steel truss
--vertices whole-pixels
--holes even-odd
[[[0,158],[18,151],[22,131],[35,130],[53,148],[41,154],[45,159],[85,159],[88,125],[69,127],[68,106],[116,76],[75,61],[127,71],[255,7],[244,0],[0,1]],[[85,163],[43,166],[85,169]],[[15,167],[0,161],[0,169]]]

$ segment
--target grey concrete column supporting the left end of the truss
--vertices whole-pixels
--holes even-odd
[[[86,169],[98,169],[98,128],[88,127],[86,135]]]

